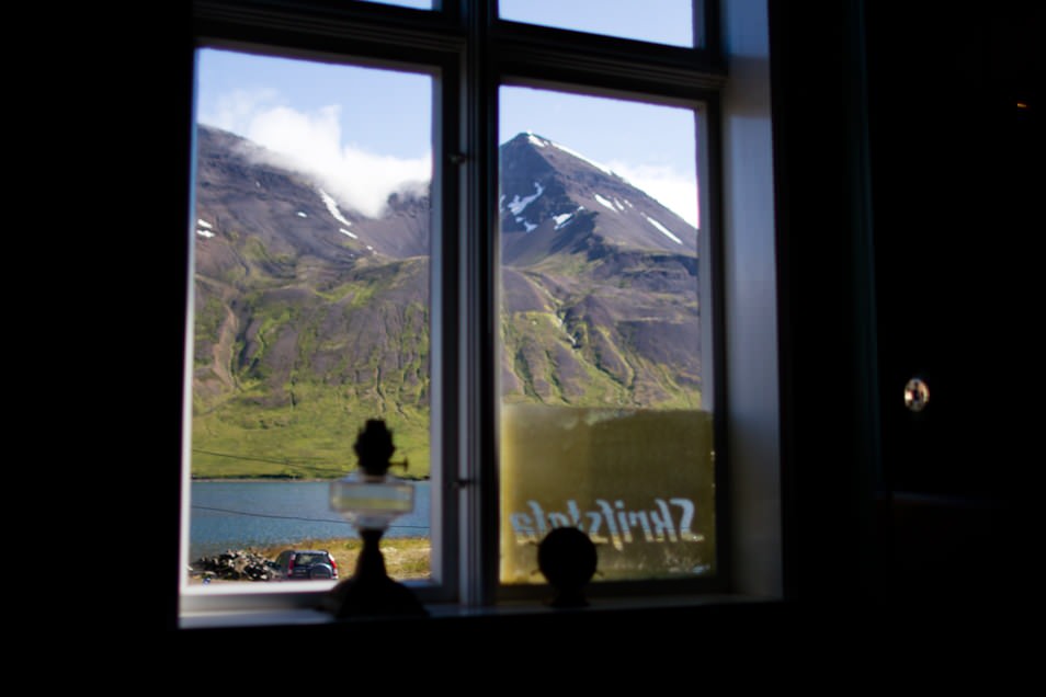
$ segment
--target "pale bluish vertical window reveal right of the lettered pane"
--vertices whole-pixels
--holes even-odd
[[[727,462],[735,589],[782,597],[781,432],[770,27],[765,0],[725,0],[721,95]]]

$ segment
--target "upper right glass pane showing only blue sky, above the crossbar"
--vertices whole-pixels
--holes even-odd
[[[503,20],[694,46],[693,0],[500,0]]]

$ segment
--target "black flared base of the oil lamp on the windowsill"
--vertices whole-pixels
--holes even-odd
[[[410,589],[388,578],[379,548],[383,534],[384,530],[360,530],[363,550],[355,573],[323,598],[323,609],[338,619],[429,615]]]

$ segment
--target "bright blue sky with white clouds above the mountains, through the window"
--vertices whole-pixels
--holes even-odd
[[[689,0],[650,3],[686,5],[689,22]],[[394,4],[428,7],[424,0]],[[501,2],[503,16],[521,21],[531,19],[521,13],[542,7],[552,4]],[[615,18],[640,26],[607,11],[605,0],[559,0],[556,7],[577,10],[559,13],[567,28],[592,16],[601,24],[590,28],[601,33],[613,33]],[[196,72],[201,123],[281,153],[282,164],[318,174],[329,193],[366,215],[379,215],[393,191],[431,176],[434,81],[428,75],[209,48],[200,50]],[[692,111],[522,87],[502,87],[499,96],[500,142],[531,132],[567,146],[697,226]]]

